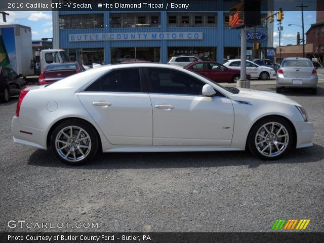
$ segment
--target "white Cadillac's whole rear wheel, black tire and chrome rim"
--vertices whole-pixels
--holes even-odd
[[[98,150],[98,136],[94,128],[82,120],[66,120],[54,129],[51,149],[55,156],[68,165],[82,165]]]

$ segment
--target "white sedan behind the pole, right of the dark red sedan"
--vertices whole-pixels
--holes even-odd
[[[228,60],[223,65],[231,69],[240,70],[241,60],[240,59]],[[270,77],[275,77],[276,74],[273,68],[260,66],[249,60],[247,60],[247,72],[251,75],[251,78],[260,78],[262,80],[267,80]]]

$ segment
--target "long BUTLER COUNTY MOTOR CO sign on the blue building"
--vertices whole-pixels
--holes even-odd
[[[69,34],[69,42],[203,39],[203,32],[126,32]]]

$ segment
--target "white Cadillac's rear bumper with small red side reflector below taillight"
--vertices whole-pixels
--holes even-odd
[[[16,143],[47,149],[45,130],[22,126],[17,116],[12,118],[11,132]]]

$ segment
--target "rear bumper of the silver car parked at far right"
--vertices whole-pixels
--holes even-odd
[[[288,78],[278,74],[276,77],[276,87],[317,88],[317,79],[317,75],[311,75],[310,78]],[[293,84],[293,80],[302,80],[302,84]]]

